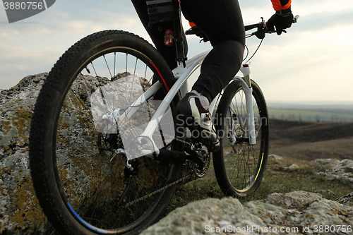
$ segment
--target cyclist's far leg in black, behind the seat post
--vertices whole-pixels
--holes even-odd
[[[147,5],[145,0],[131,0],[133,3],[133,6],[136,9],[136,12],[138,13],[138,17],[140,18],[141,22],[143,23],[143,26],[145,27],[145,30],[147,30],[148,34],[150,35],[153,44],[155,44],[155,47],[157,48],[158,52],[162,54],[164,59],[167,61],[167,64],[171,69],[174,69],[177,67],[177,62],[175,59],[177,58],[177,52],[175,50],[175,47],[167,47],[164,45],[164,32],[167,29],[172,29],[174,30],[174,23],[172,21],[167,21],[167,22],[162,22],[162,23],[155,23],[152,25],[152,27],[148,26],[148,23],[150,22],[148,18],[148,11],[147,11]],[[185,54],[188,52],[188,45],[186,42],[186,37],[184,35],[184,30],[181,29],[181,32],[183,33],[184,37],[184,49],[185,49]]]

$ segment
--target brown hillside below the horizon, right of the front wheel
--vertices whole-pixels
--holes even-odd
[[[353,123],[270,119],[270,153],[295,159],[353,159]]]

